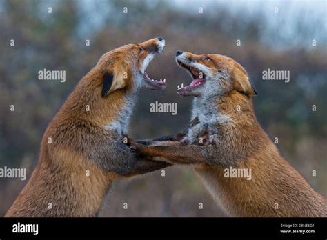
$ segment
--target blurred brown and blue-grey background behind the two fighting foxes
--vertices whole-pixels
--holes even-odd
[[[192,99],[176,90],[190,79],[175,63],[177,50],[226,54],[248,70],[259,93],[255,111],[270,138],[278,137],[284,157],[326,197],[326,29],[326,1],[0,0],[0,168],[27,168],[29,177],[46,126],[99,57],[127,43],[163,36],[164,54],[147,71],[152,78],[166,78],[168,87],[161,92],[141,90],[131,137],[158,137],[188,123]],[[66,82],[39,81],[37,72],[44,68],[66,70]],[[290,82],[262,80],[268,68],[290,70]],[[178,114],[150,112],[155,101],[177,103]],[[26,182],[0,179],[0,216]],[[123,203],[128,203],[127,210]],[[157,171],[117,181],[100,216],[224,213],[191,168],[174,166],[166,169],[165,177]]]

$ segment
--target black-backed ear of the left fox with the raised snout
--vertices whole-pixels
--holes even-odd
[[[102,97],[117,89],[124,88],[126,83],[123,79],[123,73],[119,71],[114,75],[109,72],[103,74]]]

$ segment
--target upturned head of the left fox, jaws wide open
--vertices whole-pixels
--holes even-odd
[[[95,68],[101,72],[101,94],[119,89],[139,90],[148,88],[162,90],[166,88],[164,81],[150,79],[146,68],[157,53],[164,50],[165,40],[162,37],[150,39],[139,44],[128,44],[115,48],[99,59]]]

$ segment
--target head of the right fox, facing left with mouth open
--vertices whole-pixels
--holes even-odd
[[[177,51],[178,66],[187,70],[192,83],[177,90],[182,96],[223,95],[233,90],[250,97],[257,95],[246,70],[234,59],[220,54],[196,55]]]

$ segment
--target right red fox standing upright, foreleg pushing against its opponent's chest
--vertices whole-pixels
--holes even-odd
[[[178,51],[176,61],[192,77],[189,86],[177,90],[195,97],[192,124],[176,137],[132,144],[137,153],[192,164],[230,216],[327,217],[326,199],[281,157],[257,122],[252,103],[257,92],[246,70],[219,54]],[[230,170],[236,170],[235,176]],[[239,170],[249,170],[251,176],[237,176]]]

